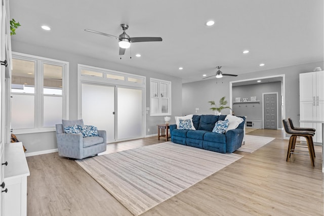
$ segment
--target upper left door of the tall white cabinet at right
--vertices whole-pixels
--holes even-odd
[[[299,101],[313,101],[316,94],[316,72],[299,74]]]

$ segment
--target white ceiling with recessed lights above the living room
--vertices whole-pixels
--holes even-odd
[[[216,73],[242,74],[323,60],[322,0],[11,0],[10,17],[22,25],[15,41],[125,64],[148,71],[201,80]],[[215,25],[205,23],[214,20]],[[119,59],[112,35],[129,24],[138,42]],[[51,27],[45,31],[42,25]],[[242,54],[244,50],[249,54]],[[135,54],[142,57],[137,58]],[[259,64],[265,66],[260,67]],[[183,67],[183,70],[178,70]]]

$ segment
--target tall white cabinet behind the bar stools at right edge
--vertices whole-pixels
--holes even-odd
[[[324,120],[324,71],[299,74],[300,120]],[[319,123],[300,123],[316,129],[314,142],[322,142]]]

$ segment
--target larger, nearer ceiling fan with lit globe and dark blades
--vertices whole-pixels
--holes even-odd
[[[106,34],[100,31],[94,31],[90,29],[85,29],[85,31],[89,31],[92,33],[96,34],[101,34],[104,36],[108,37],[114,37],[118,39],[118,44],[119,44],[119,55],[124,55],[126,49],[131,47],[131,43],[133,42],[148,42],[148,41],[162,41],[161,37],[130,37],[127,33],[126,30],[128,29],[127,24],[120,24],[121,29],[123,29],[123,33],[121,33],[118,37],[111,35],[111,34]]]

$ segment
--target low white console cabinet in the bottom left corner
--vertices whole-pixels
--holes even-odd
[[[4,215],[27,215],[27,176],[29,168],[22,143],[9,143],[5,146],[5,187]]]

